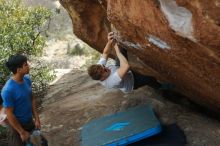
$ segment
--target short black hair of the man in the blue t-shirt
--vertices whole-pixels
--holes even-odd
[[[13,73],[17,73],[17,69],[21,68],[27,62],[27,57],[21,54],[11,55],[5,63],[7,68]]]

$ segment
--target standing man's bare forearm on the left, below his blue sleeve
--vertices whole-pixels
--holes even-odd
[[[22,141],[25,141],[29,138],[30,134],[21,127],[20,123],[13,113],[13,110],[14,109],[12,107],[5,108],[7,119],[10,125],[19,133]]]

